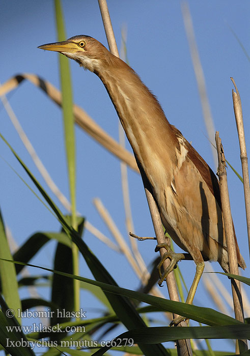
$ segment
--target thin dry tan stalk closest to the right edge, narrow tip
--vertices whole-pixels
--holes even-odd
[[[235,84],[234,78],[231,78],[231,80],[236,90],[236,93],[234,91],[232,92],[233,92],[234,114],[235,114],[235,120],[236,120],[236,126],[237,126],[239,144],[240,144],[240,159],[242,165],[246,225],[247,225],[248,247],[249,247],[249,256],[250,256],[250,187],[249,187],[247,153],[246,153],[246,145],[245,145],[245,134],[244,134],[244,126],[243,126],[243,115],[242,115],[241,100],[240,100],[240,94],[238,88]]]

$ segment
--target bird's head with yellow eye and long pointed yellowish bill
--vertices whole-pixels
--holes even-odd
[[[112,56],[100,42],[85,35],[74,36],[67,41],[47,43],[38,48],[60,52],[91,72],[98,71]]]

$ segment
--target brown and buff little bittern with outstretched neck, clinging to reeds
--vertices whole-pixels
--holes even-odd
[[[197,265],[186,300],[191,304],[204,270],[204,259],[218,261],[223,270],[229,272],[215,174],[180,131],[166,120],[158,101],[133,69],[100,42],[89,36],[75,36],[39,48],[57,51],[75,60],[98,75],[105,85],[144,182],[146,180],[152,190],[166,231],[178,246],[189,252]],[[236,237],[235,242],[238,264],[244,269]],[[172,261],[171,268],[160,274],[160,283],[181,258],[168,246],[160,244],[157,249],[161,247],[166,248],[165,257]]]

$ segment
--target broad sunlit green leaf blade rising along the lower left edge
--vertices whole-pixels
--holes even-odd
[[[7,236],[5,233],[4,221],[2,218],[0,210],[0,257],[6,259],[13,259],[9,244],[7,241]],[[2,284],[2,293],[5,297],[6,303],[15,311],[18,315],[18,309],[21,310],[21,302],[18,293],[18,283],[16,279],[15,265],[10,265],[5,261],[0,261],[0,276]],[[21,323],[21,318],[17,318],[19,323]]]

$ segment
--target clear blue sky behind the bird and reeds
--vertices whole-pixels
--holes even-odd
[[[188,4],[207,84],[214,126],[220,133],[226,158],[238,172],[241,172],[232,105],[233,85],[230,77],[234,77],[240,91],[246,144],[249,147],[250,67],[246,55],[230,28],[249,53],[250,4],[243,0],[238,3],[232,0],[219,2],[217,0],[209,2],[192,0]],[[90,35],[107,46],[97,1],[63,1],[62,5],[67,37],[80,34]],[[187,140],[192,142],[196,150],[215,170],[210,143],[205,137],[206,129],[180,2],[163,0],[117,2],[113,0],[108,2],[108,6],[118,48],[121,48],[121,28],[126,26],[127,55],[130,66],[157,96],[171,124],[174,124]],[[0,81],[3,83],[17,73],[36,73],[59,87],[58,54],[37,49],[37,46],[41,44],[57,41],[53,2],[8,0],[2,4],[0,16],[2,33]],[[118,140],[118,117],[99,78],[93,73],[82,70],[73,61],[70,65],[74,102],[84,108],[109,135]],[[61,110],[51,103],[44,93],[28,82],[23,82],[17,90],[8,95],[8,98],[45,167],[68,197]],[[2,105],[0,114],[1,133],[49,191],[30,156],[26,153]],[[77,210],[110,237],[110,233],[92,203],[94,197],[99,197],[127,238],[118,159],[106,152],[78,127],[76,127],[76,140]],[[0,142],[0,147],[1,156],[28,181],[6,145]],[[127,149],[130,150],[128,143]],[[16,243],[21,245],[29,235],[38,230],[58,231],[57,220],[27,190],[3,160],[0,160],[0,166],[2,214]],[[134,232],[138,235],[153,235],[141,178],[131,170],[128,171],[128,176]],[[228,181],[238,244],[249,268],[243,186],[230,169]],[[65,212],[58,200],[54,199]],[[87,231],[84,238],[121,286],[127,288],[138,286],[138,280],[124,257],[110,251]],[[146,263],[149,264],[155,258],[155,243],[144,242],[140,243],[139,247]],[[177,247],[176,250],[180,249]],[[51,266],[52,259],[53,244],[51,243],[49,248],[45,248],[34,259],[34,262]],[[190,285],[195,273],[195,264],[182,262],[180,265],[186,283]],[[221,271],[217,263],[214,264],[214,268],[216,271]],[[82,263],[81,275],[91,276],[84,263]],[[249,274],[246,271],[245,276],[247,275]],[[230,290],[228,280],[225,284]],[[168,295],[166,288],[163,293]],[[83,296],[83,298],[85,298],[86,308],[91,309],[95,306],[89,296]],[[202,283],[198,287],[195,303],[213,307]],[[230,344],[220,341],[215,342],[214,345],[216,349],[232,350]]]

